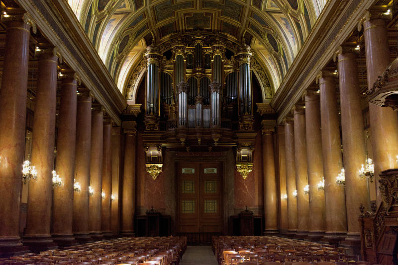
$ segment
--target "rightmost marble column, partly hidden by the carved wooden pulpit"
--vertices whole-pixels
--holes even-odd
[[[367,11],[368,12],[368,11]],[[369,14],[369,12],[368,12]],[[390,48],[386,20],[376,15],[368,16],[363,23],[368,88],[382,75],[390,64]],[[379,183],[379,173],[396,168],[398,155],[398,114],[391,108],[369,104],[370,140],[375,165],[375,182]],[[382,201],[376,185],[377,205]]]

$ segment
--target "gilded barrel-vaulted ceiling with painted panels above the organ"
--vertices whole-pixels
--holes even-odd
[[[146,46],[200,30],[250,45],[274,92],[326,0],[68,0],[125,94]]]

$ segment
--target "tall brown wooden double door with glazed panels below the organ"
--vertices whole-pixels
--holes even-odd
[[[187,235],[189,241],[195,235],[203,241],[221,234],[222,163],[180,162],[176,168],[176,232]]]

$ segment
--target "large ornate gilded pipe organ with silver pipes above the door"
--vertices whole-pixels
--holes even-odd
[[[230,47],[200,33],[167,48],[148,47],[144,123],[146,131],[162,135],[162,146],[232,147],[239,132],[253,131],[251,49]],[[250,135],[245,144],[254,142],[256,133]]]

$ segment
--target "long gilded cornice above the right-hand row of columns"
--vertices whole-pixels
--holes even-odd
[[[279,114],[278,123],[290,112],[302,92],[314,81],[319,69],[326,66],[372,4],[364,0],[328,1],[271,101]]]

